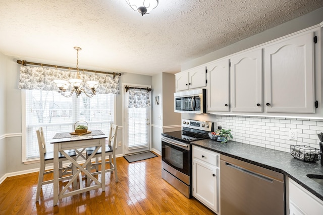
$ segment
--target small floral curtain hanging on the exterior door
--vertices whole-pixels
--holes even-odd
[[[150,106],[149,92],[147,90],[129,89],[128,108],[145,108]]]

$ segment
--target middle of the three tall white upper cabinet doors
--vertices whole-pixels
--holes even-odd
[[[261,49],[231,58],[230,86],[233,112],[262,112]]]

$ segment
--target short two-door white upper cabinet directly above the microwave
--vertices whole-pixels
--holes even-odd
[[[206,87],[206,68],[198,66],[175,74],[176,92]]]

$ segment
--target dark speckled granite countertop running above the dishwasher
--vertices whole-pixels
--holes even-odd
[[[192,141],[191,144],[283,173],[323,200],[323,185],[314,182],[306,176],[307,174],[323,175],[323,166],[320,165],[320,161],[314,163],[303,162],[293,158],[290,153],[242,144],[235,141],[221,144],[221,142],[211,139],[202,139]]]

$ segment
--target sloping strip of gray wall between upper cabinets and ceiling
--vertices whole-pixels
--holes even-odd
[[[211,52],[204,56],[200,56],[194,60],[190,60],[181,65],[181,70],[186,70],[203,63],[207,63],[221,57],[225,57],[230,54],[242,51],[247,48],[251,48],[256,45],[277,39],[279,37],[294,33],[296,31],[314,26],[323,22],[323,8],[317,9],[311,13],[308,13],[304,16],[291,20],[289,22],[283,23],[274,28],[263,31],[254,36],[248,37],[244,40],[236,42],[232,45],[226,46],[217,51]]]

